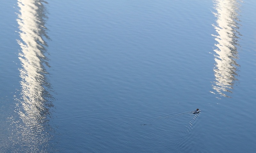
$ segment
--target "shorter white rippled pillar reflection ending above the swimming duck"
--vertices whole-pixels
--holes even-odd
[[[215,40],[214,51],[216,52],[215,61],[216,67],[214,68],[215,81],[212,88],[217,91],[221,96],[226,96],[227,92],[232,93],[234,82],[237,80],[237,67],[236,59],[238,58],[237,46],[239,29],[239,2],[237,0],[214,0],[215,3],[214,15],[217,17],[216,29],[217,35]],[[213,92],[214,93],[214,92]]]

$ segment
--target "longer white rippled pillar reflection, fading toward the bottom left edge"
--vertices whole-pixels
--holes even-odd
[[[19,59],[20,96],[16,95],[16,112],[12,118],[15,134],[11,137],[13,152],[48,152],[51,148],[52,127],[49,125],[52,96],[49,94],[45,57],[47,43],[45,1],[18,0],[18,19],[21,51]],[[49,65],[48,65],[49,66]],[[15,121],[15,122],[14,122]]]

